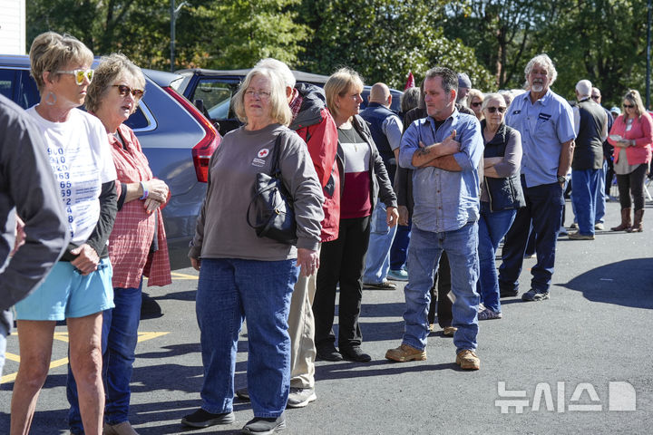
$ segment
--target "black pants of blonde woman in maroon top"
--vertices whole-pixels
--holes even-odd
[[[316,322],[315,343],[331,346],[336,342],[333,332],[336,314],[336,285],[340,284],[338,304],[338,347],[360,346],[363,335],[358,324],[365,268],[365,253],[369,243],[370,218],[340,219],[336,240],[324,242],[317,270],[317,288],[313,301]]]

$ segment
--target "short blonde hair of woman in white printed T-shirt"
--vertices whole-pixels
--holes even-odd
[[[45,32],[34,38],[30,48],[31,74],[39,92],[44,90],[43,74],[56,74],[69,63],[93,63],[93,52],[70,34]]]

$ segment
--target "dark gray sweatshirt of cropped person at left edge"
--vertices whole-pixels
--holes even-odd
[[[16,213],[25,240],[9,259]],[[30,116],[0,95],[0,312],[41,283],[68,245],[66,227],[44,141]]]

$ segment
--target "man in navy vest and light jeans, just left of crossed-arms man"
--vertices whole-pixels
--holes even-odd
[[[376,149],[384,161],[390,183],[395,183],[396,159],[403,126],[395,112],[390,110],[392,94],[385,83],[375,83],[369,94],[369,104],[360,112],[361,118],[369,122],[369,129]],[[390,247],[395,239],[397,227],[388,227],[385,204],[376,201],[374,214],[370,218],[369,247],[365,256],[363,288],[395,290],[396,285],[387,280],[390,270]]]

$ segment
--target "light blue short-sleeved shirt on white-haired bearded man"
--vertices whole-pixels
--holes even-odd
[[[524,92],[512,101],[505,123],[521,133],[526,186],[557,183],[562,144],[576,137],[569,103],[551,89],[534,103]]]

